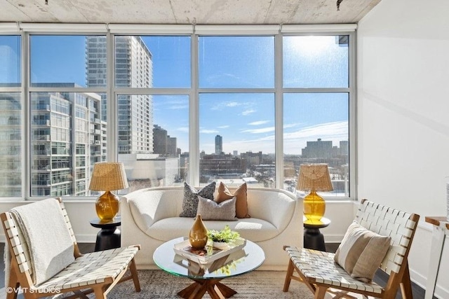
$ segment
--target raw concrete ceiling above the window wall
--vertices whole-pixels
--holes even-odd
[[[48,4],[46,4],[48,1]],[[356,23],[380,0],[0,0],[0,22]]]

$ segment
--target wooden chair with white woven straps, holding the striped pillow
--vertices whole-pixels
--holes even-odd
[[[284,246],[290,259],[283,291],[288,291],[293,279],[306,284],[316,299],[324,298],[326,293],[334,293],[334,298],[354,298],[348,293],[358,293],[393,299],[398,288],[403,299],[413,298],[407,258],[419,218],[417,214],[407,214],[365,199],[361,201],[355,220],[368,230],[391,237],[389,250],[380,265],[380,269],[389,274],[384,286],[353,279],[334,263],[334,253]]]

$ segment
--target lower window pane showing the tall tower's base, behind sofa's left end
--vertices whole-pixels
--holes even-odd
[[[156,186],[182,186],[189,170],[189,97],[123,96],[142,101],[137,117],[119,119],[118,160],[127,172],[127,192]],[[119,116],[127,113],[127,106]]]

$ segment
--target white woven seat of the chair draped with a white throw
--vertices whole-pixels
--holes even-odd
[[[44,291],[48,289],[76,288],[104,282],[107,278],[115,279],[125,269],[130,260],[139,251],[138,247],[128,246],[86,253],[76,258],[74,263],[54,277],[45,281],[34,289]]]

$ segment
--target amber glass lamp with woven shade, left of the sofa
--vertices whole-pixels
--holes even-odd
[[[120,162],[99,162],[93,165],[89,190],[105,191],[95,201],[95,210],[102,222],[111,221],[119,212],[119,197],[111,190],[128,188],[125,167]]]

